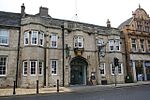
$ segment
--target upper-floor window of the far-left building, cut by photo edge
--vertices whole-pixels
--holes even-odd
[[[8,45],[9,32],[4,29],[0,29],[0,45]]]

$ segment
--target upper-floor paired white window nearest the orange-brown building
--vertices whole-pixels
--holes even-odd
[[[110,51],[120,51],[120,40],[109,40]]]

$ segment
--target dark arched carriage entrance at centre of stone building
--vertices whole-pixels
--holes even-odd
[[[88,63],[83,57],[75,57],[70,63],[70,84],[86,85]]]

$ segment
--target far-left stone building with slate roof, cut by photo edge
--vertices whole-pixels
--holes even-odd
[[[0,12],[0,87],[13,86],[18,68],[20,14]]]

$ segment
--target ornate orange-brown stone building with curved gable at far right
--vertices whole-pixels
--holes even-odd
[[[134,82],[150,80],[150,17],[139,6],[119,29],[125,37],[127,73]]]

